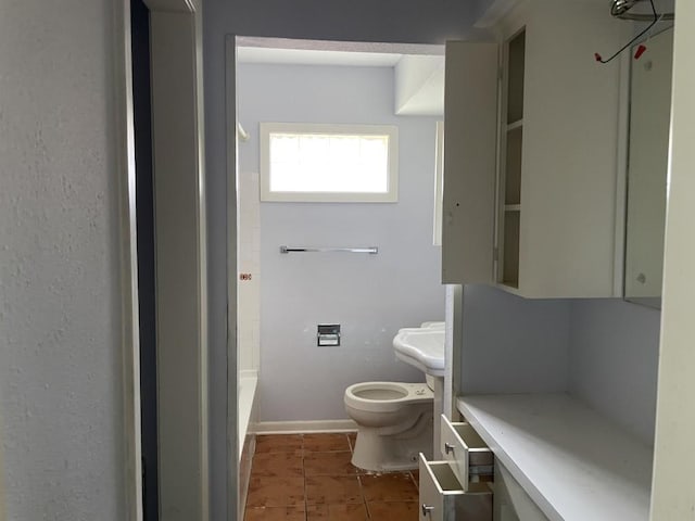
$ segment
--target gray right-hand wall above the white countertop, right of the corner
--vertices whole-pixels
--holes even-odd
[[[619,300],[573,301],[569,390],[654,444],[660,312]]]

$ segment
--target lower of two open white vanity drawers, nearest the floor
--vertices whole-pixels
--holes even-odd
[[[492,521],[488,483],[464,491],[447,461],[427,461],[420,454],[420,521]]]

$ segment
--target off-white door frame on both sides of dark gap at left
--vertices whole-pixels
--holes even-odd
[[[197,0],[146,0],[146,4],[151,15],[152,53],[160,512],[167,521],[207,521],[202,9]],[[124,494],[126,519],[140,521],[142,446],[130,0],[116,2],[115,9]]]

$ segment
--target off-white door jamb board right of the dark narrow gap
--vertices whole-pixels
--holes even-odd
[[[202,12],[150,8],[160,512],[210,518]]]

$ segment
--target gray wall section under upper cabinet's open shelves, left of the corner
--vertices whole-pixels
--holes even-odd
[[[528,300],[466,285],[462,391],[567,391],[570,301]]]

